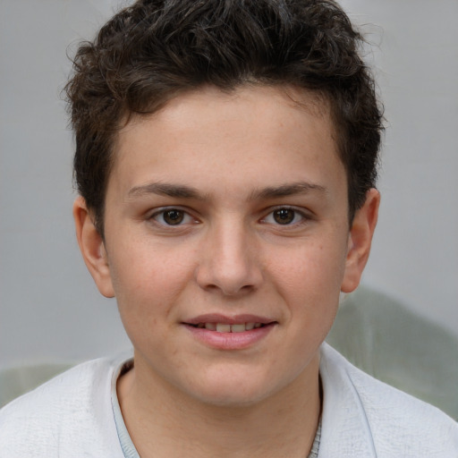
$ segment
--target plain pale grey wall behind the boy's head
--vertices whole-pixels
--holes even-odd
[[[129,346],[72,225],[66,57],[117,0],[0,2],[0,366]],[[125,4],[125,3],[124,3]],[[389,121],[382,207],[363,283],[458,335],[458,1],[345,0]]]

